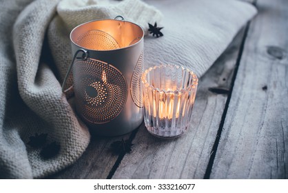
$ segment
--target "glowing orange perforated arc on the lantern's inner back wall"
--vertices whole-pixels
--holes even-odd
[[[76,41],[76,44],[89,50],[114,50],[119,48],[116,40],[100,30],[90,30],[83,33]]]

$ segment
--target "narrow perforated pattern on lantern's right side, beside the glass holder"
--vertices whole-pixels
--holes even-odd
[[[132,74],[131,79],[131,96],[132,99],[139,108],[143,107],[143,97],[142,97],[142,87],[141,87],[141,75],[144,70],[144,62],[143,62],[143,51],[141,52],[136,66],[134,68],[134,72]]]

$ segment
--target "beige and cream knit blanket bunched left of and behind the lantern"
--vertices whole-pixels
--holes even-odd
[[[61,92],[75,26],[122,15],[147,32],[147,23],[158,21],[164,37],[145,37],[146,67],[177,63],[201,75],[256,13],[234,0],[0,0],[0,5],[1,179],[58,172],[90,142],[88,128]]]

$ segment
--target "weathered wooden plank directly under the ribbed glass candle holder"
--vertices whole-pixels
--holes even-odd
[[[132,153],[124,156],[114,179],[203,179],[227,100],[226,93],[209,88],[229,90],[243,34],[242,30],[200,79],[188,132],[163,140],[142,126],[132,141]]]

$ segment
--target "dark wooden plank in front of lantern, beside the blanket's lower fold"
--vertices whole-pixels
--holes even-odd
[[[106,179],[119,157],[112,152],[110,145],[114,141],[129,139],[129,136],[94,137],[74,165],[48,176],[48,179]]]

